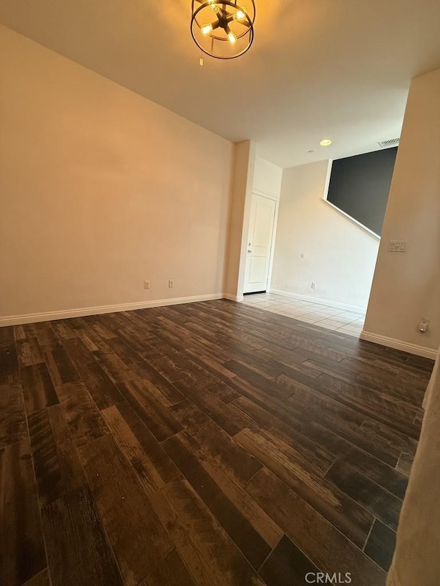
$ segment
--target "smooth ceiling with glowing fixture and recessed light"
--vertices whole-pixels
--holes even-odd
[[[399,137],[410,79],[440,67],[439,0],[255,1],[250,51],[203,67],[190,0],[0,0],[0,22],[281,167]]]

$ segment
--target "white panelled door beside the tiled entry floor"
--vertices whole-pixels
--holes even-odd
[[[266,291],[270,249],[274,234],[275,207],[274,199],[252,194],[243,293]]]

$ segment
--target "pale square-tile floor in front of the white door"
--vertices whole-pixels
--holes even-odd
[[[351,336],[359,337],[364,326],[365,313],[347,311],[337,307],[294,297],[276,295],[276,293],[258,293],[245,295],[243,303],[252,307],[294,317],[307,324],[316,324],[328,330],[338,330]]]

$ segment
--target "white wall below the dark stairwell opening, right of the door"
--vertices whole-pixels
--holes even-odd
[[[271,290],[366,308],[378,242],[322,201],[328,170],[320,161],[283,172]]]

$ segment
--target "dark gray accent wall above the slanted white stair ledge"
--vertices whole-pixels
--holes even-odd
[[[327,201],[380,235],[396,155],[397,147],[336,159]]]

